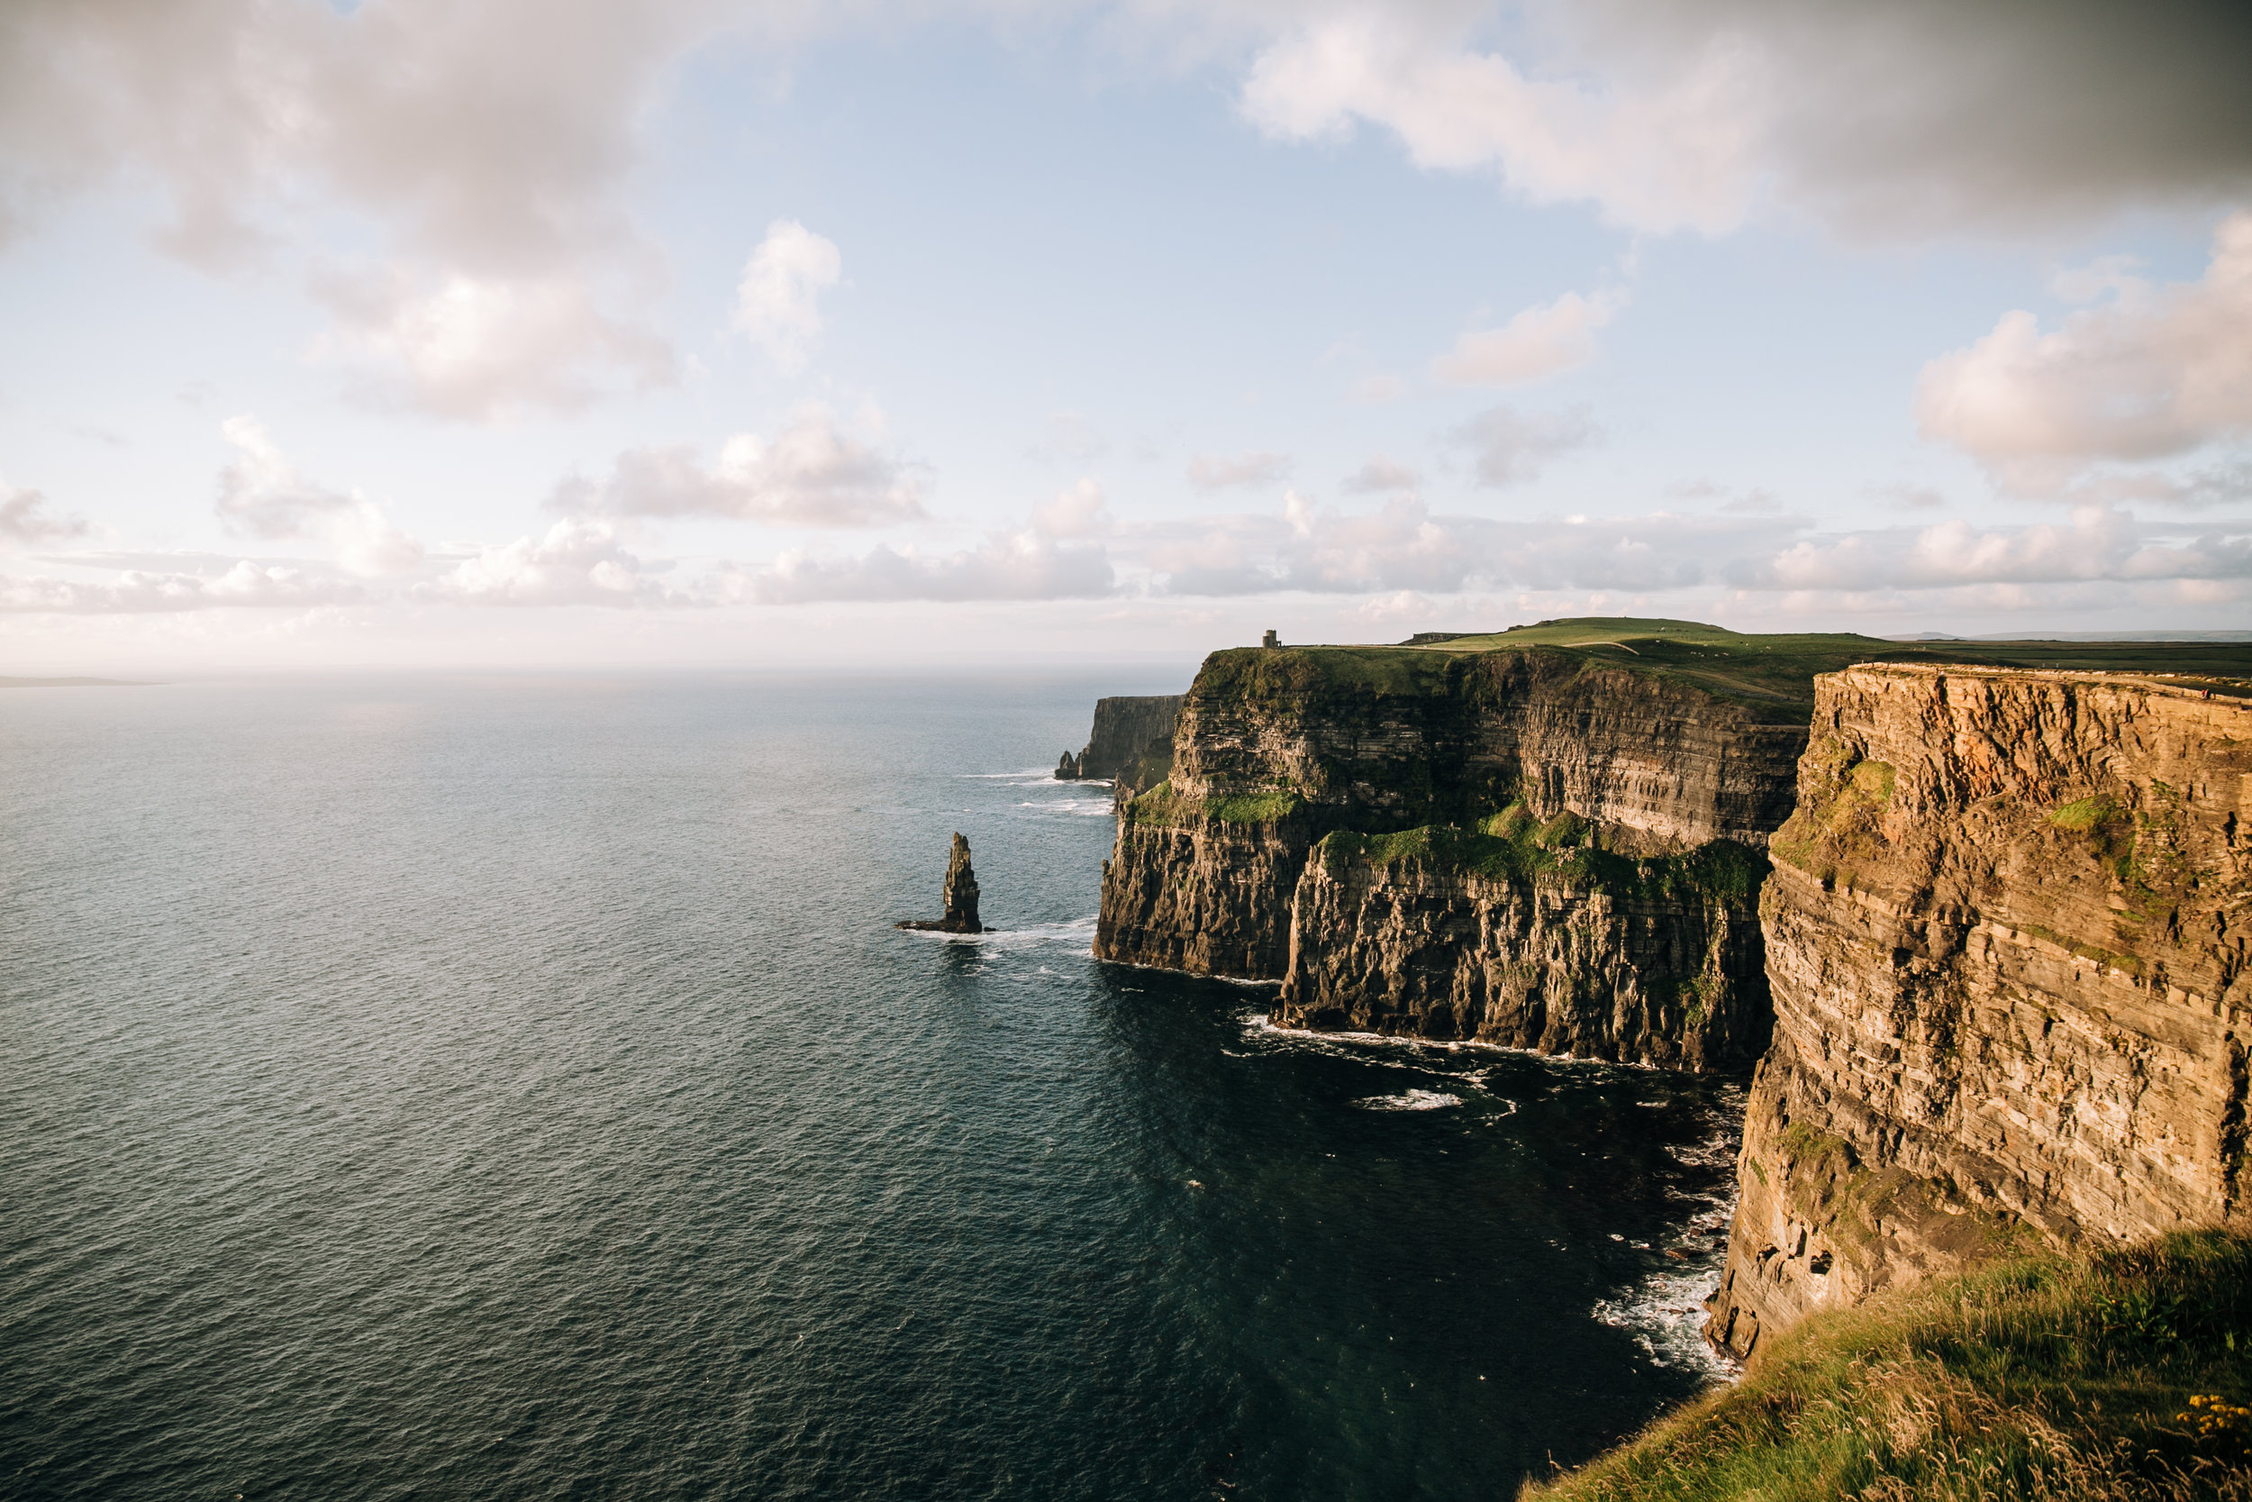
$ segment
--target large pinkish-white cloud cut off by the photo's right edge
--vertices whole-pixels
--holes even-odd
[[[2025,311],[1923,367],[1916,423],[2020,493],[2099,462],[2151,462],[2252,432],[2252,212],[2214,234],[2202,281],[2151,288],[2117,268],[2103,306],[2054,333]]]

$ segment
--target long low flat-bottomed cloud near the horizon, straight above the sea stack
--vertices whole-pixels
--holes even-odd
[[[797,606],[899,599],[1099,599],[1117,576],[1101,543],[1058,543],[1038,531],[986,538],[948,554],[874,547],[860,556],[786,552],[768,567],[732,570],[732,601]]]

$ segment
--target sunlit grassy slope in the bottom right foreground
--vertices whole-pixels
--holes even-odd
[[[2029,1259],[1815,1315],[1525,1497],[2252,1497],[2252,1236]]]

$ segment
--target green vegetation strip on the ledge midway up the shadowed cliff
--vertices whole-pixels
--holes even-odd
[[[1380,867],[1419,862],[1444,874],[1468,871],[1637,901],[1712,896],[1750,903],[1768,874],[1768,858],[1734,840],[1712,840],[1682,856],[1621,856],[1599,849],[1592,833],[1576,813],[1558,813],[1543,824],[1525,804],[1511,804],[1477,829],[1426,824],[1387,835],[1340,829],[1322,840],[1320,860],[1331,876],[1342,876],[1356,860]]]

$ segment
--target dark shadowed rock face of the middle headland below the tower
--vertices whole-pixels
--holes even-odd
[[[1284,980],[1284,1025],[1745,1067],[1748,851],[1806,739],[1768,718],[1538,649],[1214,653],[1119,811],[1094,953]],[[1734,878],[1700,883],[1716,840]]]

